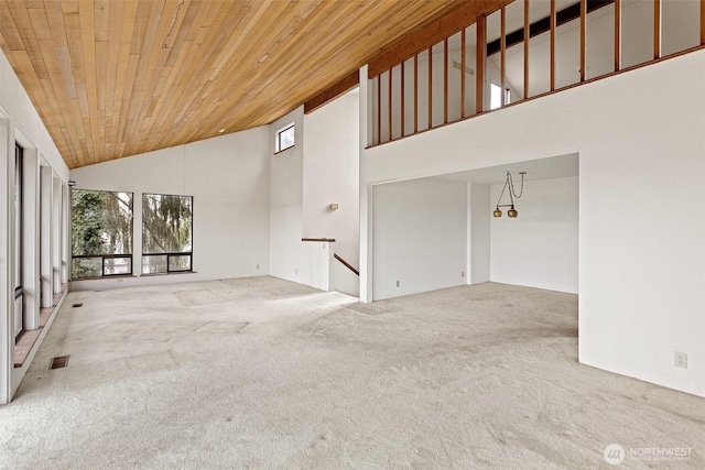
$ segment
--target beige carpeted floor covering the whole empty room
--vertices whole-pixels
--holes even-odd
[[[0,407],[0,468],[705,468],[705,401],[578,364],[575,295],[355,300],[273,277],[72,293]]]

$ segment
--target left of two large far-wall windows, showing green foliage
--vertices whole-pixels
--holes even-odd
[[[72,277],[132,274],[132,193],[72,192]]]

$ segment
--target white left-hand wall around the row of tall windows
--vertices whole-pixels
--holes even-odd
[[[43,339],[41,336],[35,342],[25,361],[25,367],[14,369],[14,282],[11,273],[14,264],[19,262],[13,250],[15,142],[24,147],[25,164],[33,168],[33,172],[25,174],[28,193],[30,189],[35,189],[39,195],[40,165],[47,167],[57,178],[59,188],[68,182],[68,167],[4,53],[0,52],[0,404],[11,400]],[[25,274],[36,274],[40,250],[39,215],[28,212],[26,207],[23,251],[25,261],[36,260],[36,262],[32,266],[25,266]],[[39,208],[34,209],[39,210]],[[56,236],[56,233],[52,234],[48,227],[42,231],[42,237],[50,242],[56,243],[56,240],[51,239]],[[31,240],[34,243],[30,243]],[[24,281],[23,287],[29,293],[25,296],[32,296],[31,302],[25,305],[24,315],[25,318],[32,317],[36,320],[39,319],[39,300],[35,297],[39,296],[40,278],[39,275],[34,275]],[[48,282],[53,284],[51,278]],[[26,320],[25,325],[28,325]]]

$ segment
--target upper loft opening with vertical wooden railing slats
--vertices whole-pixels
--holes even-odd
[[[369,145],[702,48],[705,0],[513,0],[415,43],[370,64]]]

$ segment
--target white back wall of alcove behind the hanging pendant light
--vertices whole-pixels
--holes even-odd
[[[495,209],[502,186],[492,185],[486,214]],[[490,218],[491,281],[577,294],[578,178],[525,182],[514,203],[516,219],[506,208],[502,217]]]

